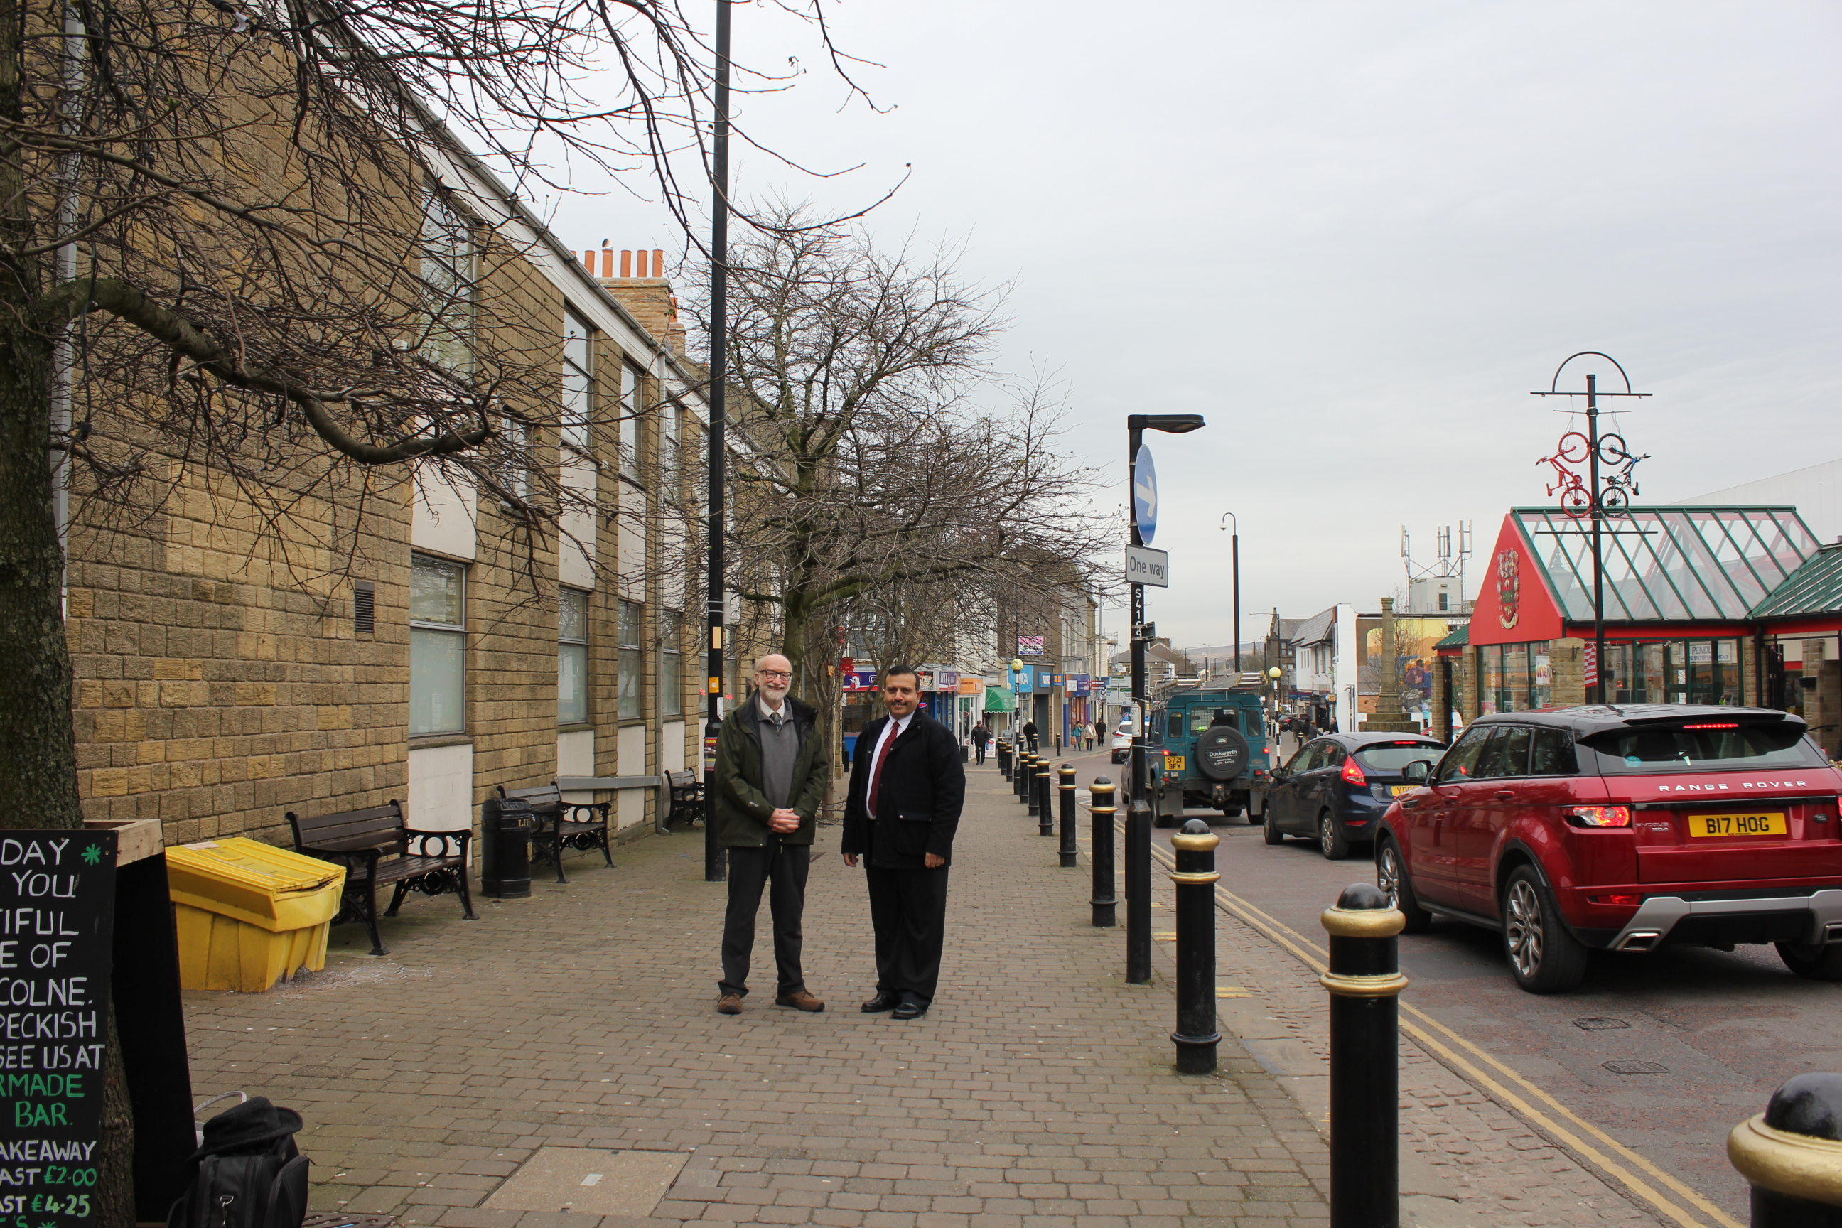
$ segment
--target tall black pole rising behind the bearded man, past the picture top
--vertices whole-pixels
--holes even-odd
[[[704,606],[709,619],[709,661],[704,694],[704,882],[728,878],[728,860],[717,843],[717,736],[722,733],[722,464],[724,392],[729,348],[729,0],[717,0],[717,133],[711,156],[709,221],[709,573]]]

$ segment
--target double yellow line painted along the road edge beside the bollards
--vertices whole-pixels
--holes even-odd
[[[1166,869],[1177,867],[1175,858],[1160,845],[1151,845],[1151,856],[1157,858]],[[1330,970],[1330,952],[1306,939],[1297,930],[1260,911],[1232,891],[1216,887],[1216,902],[1278,946],[1291,952],[1299,963],[1313,972],[1323,974]],[[1426,1011],[1405,1000],[1400,1003],[1400,1009],[1405,1016],[1409,1016],[1402,1018],[1402,1031],[1413,1037],[1422,1049],[1435,1053],[1448,1066],[1485,1090],[1496,1103],[1520,1114],[1549,1138],[1558,1140],[1564,1147],[1593,1167],[1604,1171],[1614,1180],[1621,1182],[1626,1189],[1669,1219],[1676,1221],[1684,1228],[1708,1228],[1709,1222],[1719,1224],[1719,1228],[1744,1228],[1744,1224],[1717,1208],[1700,1193],[1689,1189],[1645,1156],[1617,1141],[1591,1121],[1580,1118],[1553,1095],[1529,1083],[1516,1070],[1490,1057]],[[1440,1037],[1444,1037],[1444,1040],[1440,1040]],[[1459,1049],[1463,1049],[1463,1053]],[[1658,1186],[1663,1189],[1658,1189]],[[1695,1210],[1691,1211],[1684,1204]],[[1700,1215],[1695,1211],[1700,1211]]]

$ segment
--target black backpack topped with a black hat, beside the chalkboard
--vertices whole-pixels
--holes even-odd
[[[192,1154],[197,1175],[166,1213],[166,1228],[300,1228],[308,1158],[295,1147],[293,1108],[254,1095],[204,1123]]]

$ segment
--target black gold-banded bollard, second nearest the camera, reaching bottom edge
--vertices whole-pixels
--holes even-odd
[[[1330,1228],[1400,1224],[1400,974],[1407,919],[1374,884],[1343,889],[1330,933]]]

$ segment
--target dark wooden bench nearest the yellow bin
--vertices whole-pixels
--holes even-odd
[[[391,895],[391,908],[385,917],[394,917],[403,897],[411,891],[422,895],[460,893],[460,913],[468,921],[473,915],[473,897],[466,884],[466,851],[473,832],[418,832],[403,817],[403,805],[391,801],[387,806],[368,810],[341,810],[302,817],[287,812],[287,825],[295,828],[295,851],[322,862],[337,862],[346,867],[344,897],[339,902],[339,915],[333,922],[363,921],[370,930],[370,954],[387,956],[389,948],[378,937],[378,887],[396,884]]]

